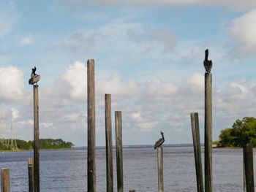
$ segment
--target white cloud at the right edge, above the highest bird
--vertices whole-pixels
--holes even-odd
[[[233,20],[230,34],[241,42],[246,53],[256,52],[256,9],[246,12],[240,18]]]

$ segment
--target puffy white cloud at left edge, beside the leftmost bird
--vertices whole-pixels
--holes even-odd
[[[15,66],[0,68],[0,99],[20,101],[24,96],[23,72]]]

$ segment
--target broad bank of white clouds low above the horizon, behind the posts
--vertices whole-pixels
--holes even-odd
[[[10,66],[10,68],[15,67]],[[15,68],[14,71],[19,70]],[[154,137],[152,133],[162,130],[167,133],[170,142],[188,142],[191,139],[189,113],[199,112],[200,120],[203,119],[203,73],[191,74],[179,84],[163,81],[159,77],[140,83],[135,80],[125,81],[118,73],[113,73],[107,79],[99,79],[99,77],[96,79],[97,135],[99,137],[102,137],[105,130],[104,104],[100,104],[104,103],[104,93],[112,94],[113,111],[122,111],[125,139],[127,139],[126,134],[133,137],[132,134],[136,131],[138,135],[148,133],[148,138],[143,141],[150,142]],[[233,81],[224,85],[215,84],[213,88],[214,137],[217,137],[222,128],[232,126],[236,118],[256,114],[255,82]],[[1,93],[4,92],[1,91]],[[59,83],[50,88],[48,86],[40,89],[39,94],[42,137],[63,137],[78,145],[85,145],[82,144],[84,142],[82,136],[76,135],[77,133],[86,134],[85,64],[76,61],[68,66],[64,74],[59,77]],[[15,130],[18,131],[19,137],[31,139],[29,134],[22,134],[30,131],[32,135],[31,106],[32,104],[28,108],[20,104],[18,107],[6,107],[8,110],[5,110],[5,113],[9,113],[8,119],[10,119],[10,113],[13,118],[18,118]],[[4,112],[4,107],[0,110],[1,113]],[[177,137],[177,135],[183,136]],[[128,142],[128,144],[132,143]],[[98,142],[97,145],[104,145],[104,142]]]

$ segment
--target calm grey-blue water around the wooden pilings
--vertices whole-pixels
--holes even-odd
[[[125,148],[123,153],[124,191],[157,191],[157,151]],[[214,149],[213,153],[214,191],[243,191],[242,150]],[[41,191],[86,191],[86,154],[86,150],[40,151]],[[11,170],[12,192],[28,191],[27,160],[32,156],[32,151],[0,153],[0,168]],[[114,157],[116,191],[115,161]],[[106,191],[105,180],[105,150],[100,149],[97,150],[97,191]],[[164,181],[165,191],[196,191],[192,147],[164,148]]]

